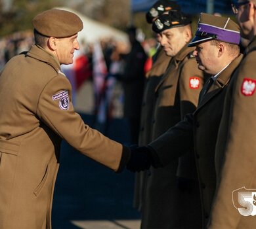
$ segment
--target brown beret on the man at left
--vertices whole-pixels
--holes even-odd
[[[73,12],[51,9],[37,14],[33,27],[47,37],[70,37],[83,29],[83,22]]]

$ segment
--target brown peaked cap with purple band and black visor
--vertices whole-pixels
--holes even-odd
[[[188,46],[210,40],[224,41],[226,43],[240,43],[240,28],[230,18],[201,13],[198,20],[198,29],[195,37]]]

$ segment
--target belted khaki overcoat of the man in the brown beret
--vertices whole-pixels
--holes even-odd
[[[0,75],[0,228],[51,228],[60,143],[119,171],[129,150],[84,124],[60,64],[32,46]],[[124,162],[124,164],[120,164]]]

